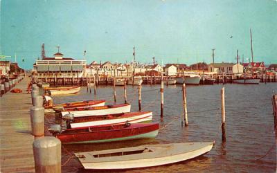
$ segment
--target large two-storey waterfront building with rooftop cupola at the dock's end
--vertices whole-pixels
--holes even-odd
[[[82,78],[85,75],[86,61],[63,57],[63,54],[58,52],[54,57],[37,60],[34,69],[38,78]]]

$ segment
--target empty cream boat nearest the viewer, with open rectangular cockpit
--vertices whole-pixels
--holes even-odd
[[[210,152],[213,142],[170,143],[74,153],[84,169],[123,170],[186,161]]]

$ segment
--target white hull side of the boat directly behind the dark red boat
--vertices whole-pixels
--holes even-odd
[[[128,114],[128,113],[126,113]],[[71,128],[77,127],[89,127],[89,126],[97,126],[97,125],[114,125],[114,124],[122,124],[125,122],[130,123],[139,123],[139,122],[150,122],[152,120],[152,112],[141,113],[137,116],[122,116],[122,118],[114,118],[111,120],[96,120],[96,121],[87,121],[87,122],[71,122]]]

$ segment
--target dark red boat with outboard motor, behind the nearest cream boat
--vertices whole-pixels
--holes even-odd
[[[159,123],[126,122],[121,125],[78,127],[73,129],[50,128],[53,136],[63,144],[69,143],[107,143],[118,140],[155,138],[159,133]]]

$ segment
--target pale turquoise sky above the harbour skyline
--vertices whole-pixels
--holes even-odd
[[[45,44],[64,57],[159,64],[277,63],[276,0],[0,0],[1,55],[33,68]],[[86,55],[84,57],[84,51]],[[24,60],[24,62],[22,61]]]

